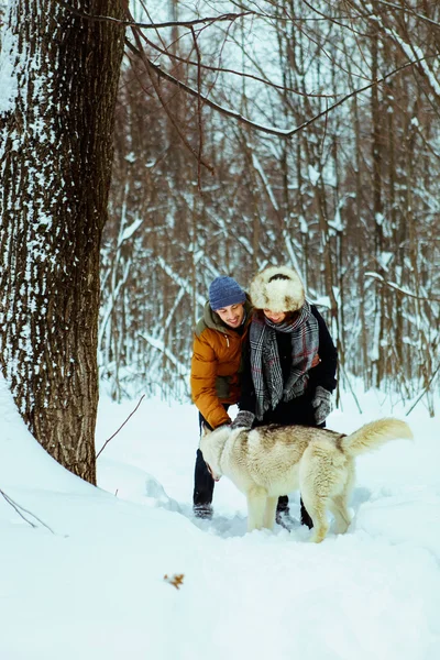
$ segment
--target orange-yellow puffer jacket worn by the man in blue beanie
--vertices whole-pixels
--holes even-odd
[[[213,429],[230,421],[222,404],[237,404],[240,398],[242,346],[252,316],[249,299],[244,311],[245,328],[240,334],[224,326],[207,302],[194,332],[191,396]]]

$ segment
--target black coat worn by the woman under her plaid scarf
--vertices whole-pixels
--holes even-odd
[[[318,385],[333,392],[337,386],[336,373],[338,365],[338,352],[334,348],[326,321],[314,305],[310,305],[311,314],[318,321],[319,327],[319,350],[318,354],[321,362],[318,366],[309,371],[309,382],[304,395],[292,399],[290,402],[279,402],[272,409],[270,408],[262,420],[255,420],[255,426],[266,424],[300,424],[305,426],[316,426],[315,410],[311,402]],[[277,332],[276,341],[278,345],[279,363],[283,371],[284,381],[287,380],[292,367],[292,340],[286,332]],[[241,397],[239,403],[240,410],[250,410],[255,414],[255,389],[251,375],[251,359],[249,338],[244,346],[243,373],[241,378]]]

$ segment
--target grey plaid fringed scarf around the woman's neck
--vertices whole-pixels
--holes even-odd
[[[276,332],[292,336],[292,367],[286,383],[279,363]],[[251,373],[255,388],[256,418],[262,419],[280,400],[289,402],[304,394],[308,372],[319,346],[318,321],[306,301],[294,321],[273,323],[254,317],[250,329]]]

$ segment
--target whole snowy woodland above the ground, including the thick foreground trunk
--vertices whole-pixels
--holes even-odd
[[[340,387],[435,414],[438,3],[8,0],[0,19],[0,366],[51,455],[96,483],[99,384],[187,399],[209,283],[277,263],[324,316]]]

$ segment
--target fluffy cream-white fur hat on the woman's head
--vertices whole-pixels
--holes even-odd
[[[270,266],[251,282],[250,296],[256,309],[296,311],[305,301],[302,282],[294,268]]]

